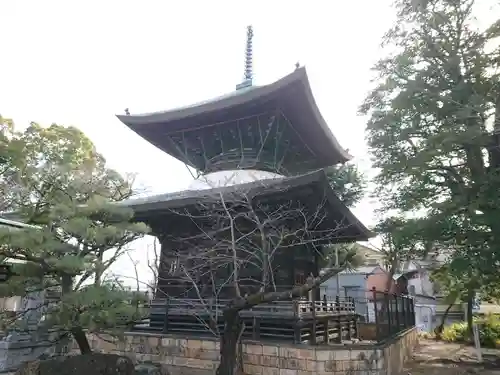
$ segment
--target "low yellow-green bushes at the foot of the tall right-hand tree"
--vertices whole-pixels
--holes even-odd
[[[475,318],[474,323],[479,328],[479,341],[486,348],[500,347],[500,317],[487,315]],[[466,322],[453,323],[445,327],[441,339],[448,342],[471,342]]]

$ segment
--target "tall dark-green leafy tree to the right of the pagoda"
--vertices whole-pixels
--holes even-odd
[[[453,249],[449,270],[468,274],[471,312],[474,290],[500,264],[500,21],[480,29],[473,0],[398,0],[396,9],[384,38],[394,52],[375,66],[361,107],[377,195],[386,209],[421,212],[423,233]]]

